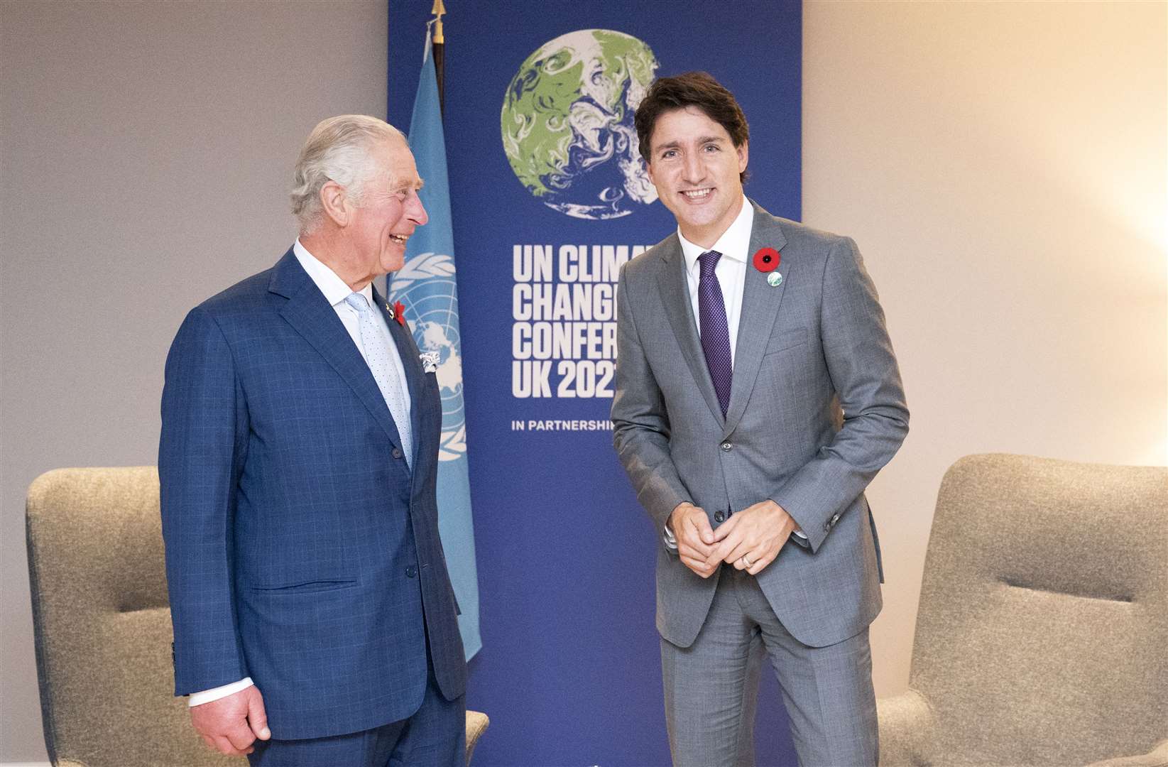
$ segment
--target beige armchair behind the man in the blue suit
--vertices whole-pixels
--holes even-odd
[[[154,467],[43,474],[28,490],[27,536],[53,763],[243,763],[208,749],[173,695]],[[467,712],[467,763],[487,725],[485,714]]]

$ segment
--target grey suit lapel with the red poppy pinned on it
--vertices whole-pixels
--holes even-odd
[[[730,384],[730,405],[726,407],[725,431],[723,439],[729,437],[746,411],[755,379],[763,363],[763,353],[779,316],[779,304],[791,283],[791,273],[795,265],[783,253],[787,244],[783,229],[774,217],[755,205],[755,221],[750,230],[750,249],[746,252],[746,279],[743,286],[742,315],[738,320],[738,340],[735,343],[734,379]],[[771,287],[766,274],[753,266],[753,254],[760,247],[773,247],[781,254],[779,273],[783,283]]]

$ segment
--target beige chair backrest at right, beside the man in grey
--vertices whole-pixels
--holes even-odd
[[[971,455],[937,500],[910,686],[962,763],[1143,753],[1168,723],[1168,469]]]

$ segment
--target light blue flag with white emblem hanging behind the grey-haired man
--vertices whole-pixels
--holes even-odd
[[[454,231],[446,176],[446,140],[438,104],[438,81],[426,36],[425,61],[410,119],[410,149],[425,186],[418,193],[430,222],[410,237],[405,266],[388,278],[390,301],[405,306],[413,340],[436,369],[442,395],[438,448],[438,531],[461,614],[458,628],[470,660],[479,636],[479,580],[474,566],[474,524],[466,461],[466,410],[463,402],[463,344],[458,325]]]

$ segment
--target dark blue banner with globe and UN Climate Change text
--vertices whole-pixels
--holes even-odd
[[[390,5],[388,111],[397,126],[412,113],[431,6]],[[648,181],[632,116],[653,77],[709,71],[750,121],[748,196],[799,218],[801,8],[447,6],[454,237],[453,247],[424,250],[459,254],[484,639],[467,705],[492,720],[474,762],[667,765],[659,531],[617,461],[609,420],[617,272],[676,228]],[[422,140],[416,130],[411,141]],[[418,165],[429,191],[434,180],[420,156]],[[426,204],[432,223],[415,237],[437,229]],[[452,570],[456,557],[447,546]],[[795,762],[770,672],[756,733],[759,763]]]

